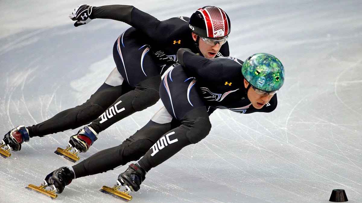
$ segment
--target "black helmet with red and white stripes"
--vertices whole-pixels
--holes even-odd
[[[219,7],[199,8],[190,17],[189,27],[193,33],[208,39],[222,39],[230,34],[230,19]]]

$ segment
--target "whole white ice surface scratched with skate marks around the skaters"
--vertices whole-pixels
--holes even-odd
[[[328,202],[344,189],[362,202],[362,2],[0,1],[0,127],[33,125],[87,100],[114,68],[112,47],[129,26],[97,19],[74,27],[79,4],[131,4],[164,20],[222,7],[232,28],[231,56],[277,56],[286,69],[272,113],[218,110],[212,130],[152,169],[132,202]],[[82,158],[121,143],[160,103],[118,122]],[[55,200],[24,189],[73,165],[54,154],[77,130],[32,138],[0,159],[0,202],[120,202],[99,192],[116,170],[73,180]]]

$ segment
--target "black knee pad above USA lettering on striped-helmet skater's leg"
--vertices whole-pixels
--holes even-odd
[[[135,111],[142,111],[147,107],[156,104],[160,99],[160,94],[153,88],[147,88],[141,90],[132,100],[132,107]]]

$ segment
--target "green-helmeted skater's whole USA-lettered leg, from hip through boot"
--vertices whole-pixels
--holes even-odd
[[[194,83],[195,80],[189,78],[180,67],[175,67],[165,75],[160,86],[160,96],[169,114],[181,125],[165,133],[138,163],[131,164],[118,176],[122,185],[129,186],[132,191],[139,190],[148,170],[209,134],[209,113],[198,91],[192,88]]]

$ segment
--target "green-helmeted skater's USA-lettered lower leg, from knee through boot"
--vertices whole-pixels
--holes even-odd
[[[205,107],[189,111],[180,126],[165,133],[138,163],[131,164],[125,172],[119,174],[118,181],[132,191],[138,191],[148,170],[163,163],[183,147],[205,138],[210,128],[209,114]]]

